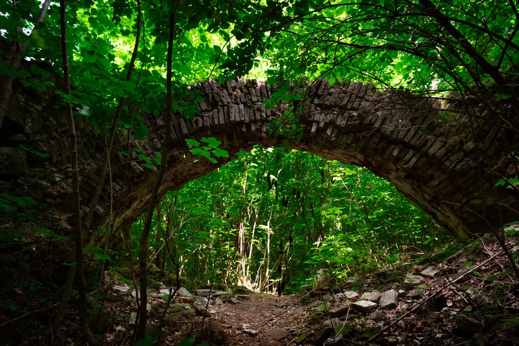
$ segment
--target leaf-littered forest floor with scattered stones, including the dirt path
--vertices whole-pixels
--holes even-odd
[[[506,244],[511,252],[518,250],[516,236],[507,236]],[[519,282],[509,268],[496,239],[482,237],[454,254],[399,262],[301,295],[236,295],[207,287],[192,295],[184,289],[170,302],[161,339],[182,346],[519,345]],[[90,325],[103,344],[126,345],[137,310],[132,283],[121,277],[107,281],[98,322]],[[168,291],[148,290],[147,326],[155,340]],[[47,310],[50,321],[53,310]],[[24,313],[15,310],[0,325],[30,318]],[[66,345],[81,343],[74,328],[78,315],[72,312],[64,322],[55,338]],[[43,323],[42,328],[50,333]],[[0,339],[15,335],[0,329]],[[0,343],[10,344],[8,339]]]

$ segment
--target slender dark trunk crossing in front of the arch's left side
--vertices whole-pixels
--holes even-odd
[[[152,225],[153,209],[155,202],[157,201],[157,195],[166,170],[166,159],[168,158],[168,147],[171,139],[171,59],[173,56],[173,36],[175,29],[175,13],[172,12],[169,18],[169,39],[168,39],[168,56],[167,56],[167,74],[166,74],[166,110],[164,112],[166,118],[166,138],[164,145],[162,146],[162,153],[160,157],[160,168],[157,174],[155,183],[153,184],[152,195],[149,199],[148,212],[146,214],[146,220],[144,222],[144,229],[141,236],[141,266],[140,266],[140,281],[141,281],[141,315],[139,316],[139,326],[137,328],[135,340],[141,340],[144,338],[146,331],[146,305],[147,305],[147,292],[146,292],[146,265],[148,258],[148,235]]]

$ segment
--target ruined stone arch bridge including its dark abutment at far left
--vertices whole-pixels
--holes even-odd
[[[270,134],[286,105],[274,109],[262,105],[273,91],[263,82],[231,80],[218,85],[209,80],[198,88],[204,101],[198,103],[200,116],[185,120],[182,114],[175,114],[172,119],[172,145],[159,198],[233,159],[239,150],[250,150],[256,144],[279,146],[287,140]],[[515,132],[502,132],[486,118],[472,130],[461,118],[442,121],[442,107],[457,107],[456,101],[446,105],[403,91],[377,90],[373,84],[345,80],[330,85],[323,79],[305,91],[304,111],[296,115],[304,132],[301,140],[290,140],[292,148],[371,170],[461,238],[519,219],[519,193],[506,186],[495,187],[503,176],[515,176],[513,156],[519,149]],[[56,98],[52,93],[38,94],[15,86],[10,116],[0,131],[0,161],[4,161],[0,186],[15,187],[55,204],[54,215],[70,220],[71,182],[64,160],[69,151],[68,130]],[[143,116],[150,135],[143,141],[130,138],[129,146],[152,157],[161,150],[164,119]],[[85,213],[99,180],[104,147],[92,127],[77,121],[81,209]],[[111,160],[115,205],[119,207],[115,226],[123,232],[146,210],[157,174],[157,170],[145,168],[144,161],[132,159],[127,164],[128,158],[119,154],[127,148],[125,133],[119,133]],[[215,165],[192,157],[185,139],[203,136],[221,141],[230,158]],[[20,144],[49,157],[22,150]],[[109,196],[108,185],[106,181],[94,224],[107,222],[103,196]]]

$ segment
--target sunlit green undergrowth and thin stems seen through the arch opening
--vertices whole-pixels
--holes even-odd
[[[401,260],[409,247],[449,240],[445,229],[373,173],[302,151],[256,147],[169,192],[150,234],[155,264],[201,282],[289,292],[330,268],[338,278]],[[132,227],[138,243],[142,219]],[[424,245],[427,244],[427,245]],[[138,249],[135,250],[138,253]],[[127,266],[126,266],[127,267]]]

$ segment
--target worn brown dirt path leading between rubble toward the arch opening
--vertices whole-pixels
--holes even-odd
[[[285,345],[292,343],[308,309],[287,297],[257,295],[236,305],[218,308],[216,319],[222,322],[229,344]]]

